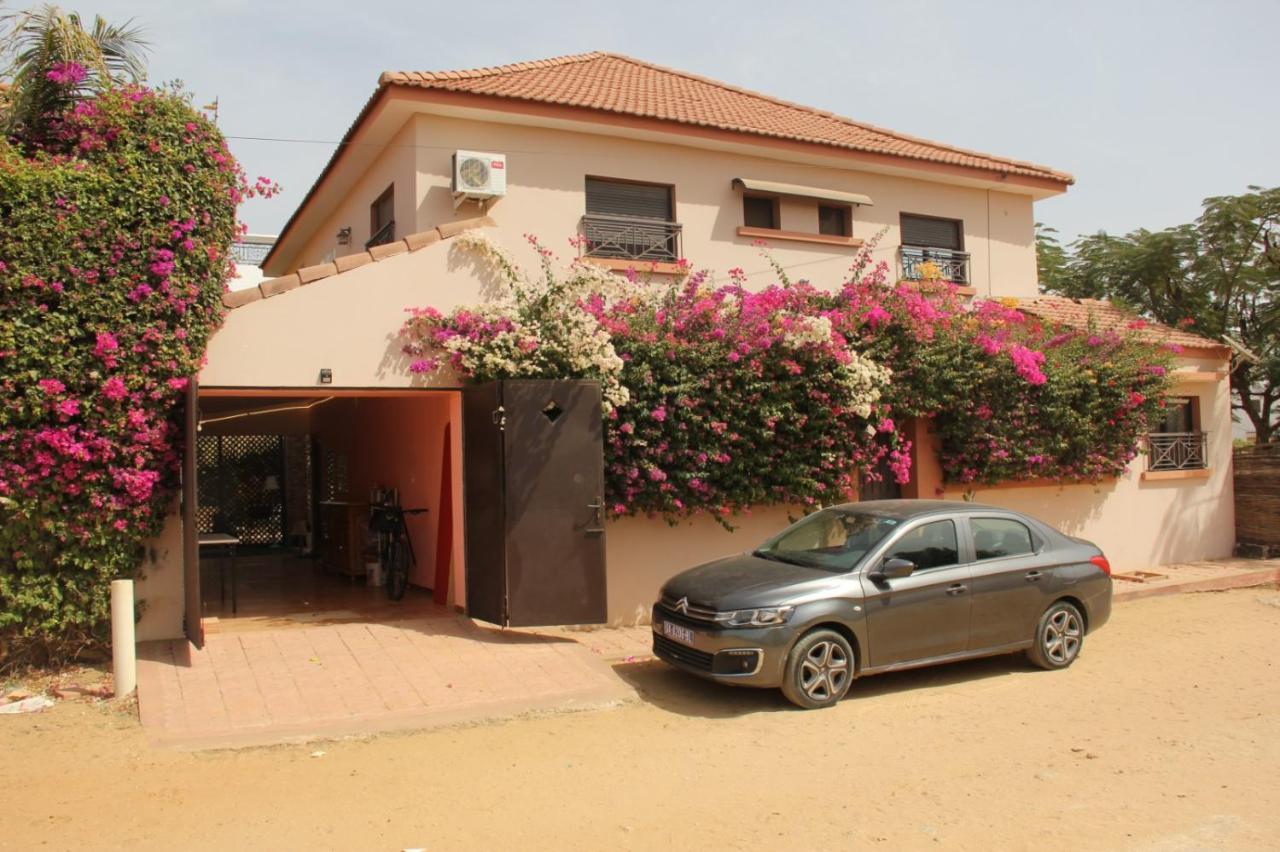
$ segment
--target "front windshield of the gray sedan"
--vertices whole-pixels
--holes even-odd
[[[852,571],[900,523],[899,518],[858,509],[822,509],[765,541],[755,555],[832,572]]]

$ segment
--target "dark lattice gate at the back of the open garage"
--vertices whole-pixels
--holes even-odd
[[[196,448],[200,531],[247,545],[284,544],[283,436],[201,435]]]

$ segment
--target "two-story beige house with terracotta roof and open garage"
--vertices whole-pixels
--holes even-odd
[[[160,562],[140,592],[150,600],[142,633],[173,635],[183,611],[188,635],[198,633],[197,613],[211,611],[212,601],[201,604],[192,592],[200,577],[197,527],[233,532],[242,545],[305,546],[329,569],[361,574],[364,504],[375,487],[397,489],[402,504],[429,508],[410,522],[413,581],[434,590],[438,603],[490,620],[511,614],[512,623],[573,618],[554,606],[538,609],[548,605],[540,595],[563,590],[521,560],[545,551],[567,564],[584,558],[582,548],[557,550],[539,537],[541,528],[520,525],[527,514],[526,527],[547,527],[550,516],[529,507],[561,499],[549,484],[577,473],[570,464],[522,481],[527,505],[518,512],[509,505],[512,487],[481,494],[468,477],[520,449],[511,445],[524,422],[516,403],[468,409],[460,388],[412,375],[396,338],[406,307],[449,310],[486,298],[492,280],[483,264],[449,251],[449,238],[465,229],[484,228],[529,266],[536,256],[524,237],[532,234],[562,256],[581,253],[609,269],[678,275],[678,261],[687,258],[722,278],[740,267],[758,285],[773,280],[758,241],[795,278],[837,285],[864,241],[883,234],[876,257],[895,280],[915,278],[918,264],[931,260],[972,294],[1030,302],[1038,297],[1033,205],[1071,182],[1046,166],[614,54],[385,73],[266,256],[269,280],[227,297],[233,310],[211,343],[191,407],[191,434],[200,429],[201,449],[198,459],[188,453],[189,478],[198,468],[201,486],[187,500],[186,555],[178,555],[183,522],[175,516],[161,541],[168,548],[159,548]],[[1055,304],[1036,303],[1041,311]],[[1201,361],[1188,362],[1197,420],[1179,429],[1210,431],[1212,445],[1202,458],[1222,458],[1224,356],[1212,342],[1197,345],[1203,351],[1192,354]],[[499,427],[511,418],[506,450],[502,439],[465,440],[468,418],[480,416]],[[918,438],[928,448],[927,425]],[[266,462],[253,468],[257,485],[246,498],[247,468],[228,459],[248,457]],[[933,496],[927,459],[919,468],[928,485],[916,491],[928,487],[919,495]],[[1203,469],[1158,484],[1158,493],[1138,493],[1156,482],[1111,486],[1112,496],[1144,500],[1142,512],[1157,526],[1167,526],[1170,512],[1184,513],[1190,535],[1178,539],[1194,553],[1183,553],[1225,555],[1229,472],[1212,469],[1199,499],[1178,490],[1207,482]],[[595,487],[586,482],[582,507],[561,516],[598,504]],[[1100,523],[1112,509],[1100,509],[1097,494],[1092,486],[1056,485],[982,496],[1038,512],[1075,535],[1105,532],[1100,537],[1115,542],[1100,544],[1121,551],[1114,556],[1120,567],[1167,562],[1156,532],[1132,545],[1132,533]],[[577,526],[599,532],[585,558],[607,563],[608,582],[607,592],[603,583],[584,592],[596,614],[577,620],[641,618],[666,576],[763,540],[786,513],[762,508],[740,518],[732,536],[709,519],[668,530],[660,521],[604,523],[589,513]],[[507,551],[499,553],[503,540]],[[282,572],[278,587],[288,590],[292,568],[278,560],[270,569]],[[279,605],[287,608],[288,591],[282,594]],[[492,594],[518,597],[518,605],[494,618]],[[232,614],[218,606],[223,617]],[[527,614],[516,611],[521,608]]]

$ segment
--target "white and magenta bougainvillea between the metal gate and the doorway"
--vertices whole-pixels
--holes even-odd
[[[664,287],[590,264],[557,272],[536,242],[543,270],[530,279],[483,235],[462,244],[495,258],[509,294],[448,316],[412,308],[411,370],[599,380],[616,516],[829,501],[859,464],[900,449],[876,440],[888,371],[833,334],[808,285],[753,293],[698,272]]]

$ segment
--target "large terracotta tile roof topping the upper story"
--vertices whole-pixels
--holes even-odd
[[[905,136],[618,54],[579,54],[472,70],[387,72],[379,82],[653,118],[1044,178],[1064,185],[1075,180],[1047,166]]]

